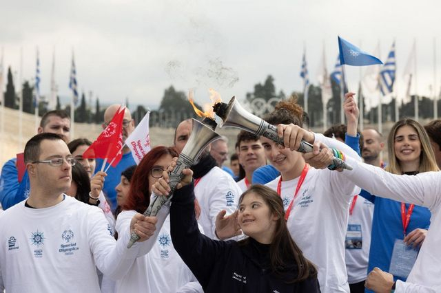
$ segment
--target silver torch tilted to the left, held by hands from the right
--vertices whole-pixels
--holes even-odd
[[[249,113],[247,110],[239,104],[236,98],[229,100],[228,104],[225,102],[216,102],[213,106],[214,113],[222,119],[223,123],[219,127],[236,127],[245,131],[254,133],[258,136],[264,136],[269,140],[276,142],[277,144],[283,144],[283,138],[279,138],[277,135],[277,128],[274,125],[269,124],[262,118]],[[300,142],[298,150],[300,153],[312,152],[312,144],[309,144],[305,140]],[[345,161],[339,158],[334,158],[333,169],[348,169],[352,170],[352,167],[346,164]]]

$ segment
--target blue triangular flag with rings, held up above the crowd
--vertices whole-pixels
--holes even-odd
[[[374,64],[383,64],[376,56],[363,52],[356,47],[338,37],[338,50],[340,50],[340,64],[352,66],[367,66]]]

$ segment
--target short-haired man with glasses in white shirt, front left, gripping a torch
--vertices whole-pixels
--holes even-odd
[[[0,246],[0,289],[99,293],[96,268],[119,279],[156,242],[152,237],[126,247],[133,230],[141,241],[157,235],[156,217],[134,215],[130,229],[115,241],[99,208],[64,194],[76,160],[59,135],[35,135],[25,146],[24,160],[30,195],[0,215],[5,243]]]

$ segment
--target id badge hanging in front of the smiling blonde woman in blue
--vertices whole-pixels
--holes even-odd
[[[414,249],[413,246],[407,246],[401,239],[396,239],[393,245],[389,273],[407,279],[417,257],[418,250]]]

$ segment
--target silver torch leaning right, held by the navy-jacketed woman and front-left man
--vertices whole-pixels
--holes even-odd
[[[192,133],[190,133],[187,144],[185,144],[184,149],[182,150],[181,154],[179,154],[176,166],[174,167],[173,171],[169,173],[169,185],[171,191],[167,196],[158,196],[153,194],[150,205],[143,214],[146,217],[155,216],[158,214],[161,207],[172,198],[172,195],[176,190],[176,186],[184,177],[182,173],[183,169],[192,166],[196,160],[198,160],[205,147],[214,142],[214,140],[218,140],[220,138],[220,135],[214,132],[214,129],[216,129],[217,126],[214,119],[206,117],[202,120],[202,122],[199,122],[196,119],[192,120]],[[135,232],[132,232],[130,235],[130,241],[127,243],[127,248],[131,248],[133,244],[139,240],[139,238],[140,237],[136,235]]]

